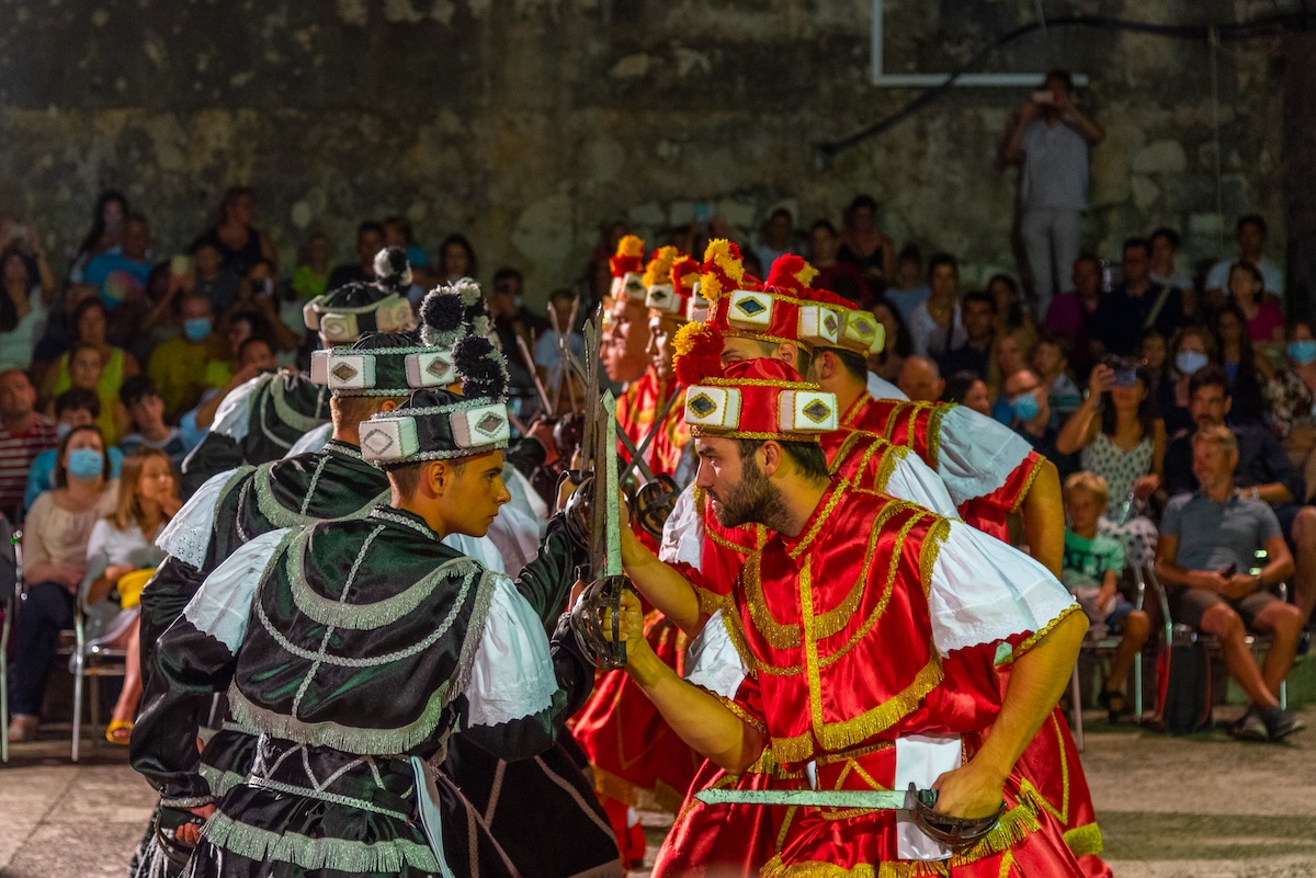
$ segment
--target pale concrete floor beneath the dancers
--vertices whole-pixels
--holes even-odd
[[[1221,707],[1219,719],[1238,708]],[[1083,762],[1120,878],[1316,877],[1316,706],[1291,744],[1167,739],[1088,714]],[[67,727],[0,765],[0,875],[122,877],[154,797],[108,744],[68,761]],[[654,845],[666,815],[645,815]],[[653,845],[650,856],[653,853]],[[632,873],[645,874],[645,873]]]

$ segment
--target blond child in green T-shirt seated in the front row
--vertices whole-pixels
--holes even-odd
[[[1152,635],[1152,620],[1120,594],[1124,547],[1096,532],[1096,523],[1108,509],[1109,493],[1104,478],[1080,472],[1065,480],[1069,527],[1065,528],[1061,580],[1091,620],[1090,636],[1098,640],[1107,636],[1120,639],[1111,661],[1111,676],[1098,697],[1115,723],[1129,712],[1124,687],[1134,657]]]

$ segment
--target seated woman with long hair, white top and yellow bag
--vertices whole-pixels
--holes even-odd
[[[183,503],[174,467],[154,448],[138,448],[124,459],[117,494],[113,511],[96,522],[87,540],[88,577],[83,578],[80,599],[87,612],[87,643],[128,652],[124,687],[105,729],[105,740],[126,747],[142,695],[142,586],[163,560],[155,538]]]

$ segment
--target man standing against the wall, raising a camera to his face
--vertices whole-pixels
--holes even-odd
[[[999,164],[1020,166],[1020,233],[1033,275],[1034,313],[1046,314],[1061,290],[1062,272],[1078,259],[1087,209],[1087,150],[1105,139],[1105,129],[1070,99],[1067,70],[1046,74],[1024,101],[1001,145]]]

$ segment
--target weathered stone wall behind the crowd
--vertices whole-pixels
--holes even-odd
[[[1086,0],[1144,21],[1233,20],[1248,3]],[[1265,5],[1265,4],[1262,4]],[[1236,8],[1237,7],[1237,8]],[[1036,14],[1033,0],[887,0],[887,70],[944,71]],[[871,0],[0,0],[0,209],[70,251],[103,187],[186,246],[232,183],[291,266],[312,230],[350,258],[363,218],[405,213],[433,248],[532,297],[578,279],[600,223],[654,237],[708,204],[750,234],[776,205],[840,218],[855,192],[898,242],[946,248],[970,280],[1012,268],[1013,173],[994,168],[1011,89],[953,89],[820,167],[816,145],[912,99],[869,81]],[[1274,45],[1058,30],[988,70],[1071,67],[1109,133],[1092,156],[1091,247],[1169,223],[1186,267],[1242,210],[1283,256]],[[1220,187],[1215,124],[1220,135]],[[1220,212],[1227,229],[1221,233]]]

